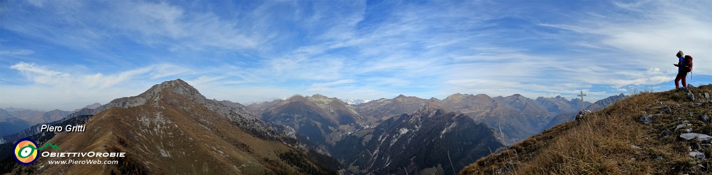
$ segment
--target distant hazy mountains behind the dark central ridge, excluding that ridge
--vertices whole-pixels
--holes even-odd
[[[583,102],[583,105],[587,110],[600,110],[611,102],[624,97],[626,95],[614,95],[595,103]],[[478,123],[483,122],[488,127],[498,130],[506,144],[513,144],[556,124],[570,121],[581,108],[580,99],[566,100],[561,96],[538,97],[536,100],[532,100],[518,94],[508,97],[489,97],[484,94],[459,93],[450,95],[444,100],[436,98],[425,100],[419,97],[399,95],[393,99],[382,98],[359,105],[348,105],[345,102],[338,102],[336,98],[323,95],[305,97],[293,95],[285,100],[254,103],[248,105],[247,108],[267,120],[294,128],[304,128],[303,124],[319,126],[318,131],[304,130],[304,132],[298,133],[318,138],[315,139],[318,143],[324,143],[326,139],[329,139],[331,140],[329,144],[333,145],[334,140],[340,139],[338,136],[352,132],[353,129],[375,127],[389,117],[412,114],[429,103],[461,112]],[[287,116],[291,118],[288,119]],[[344,117],[340,120],[354,120],[355,123],[344,124],[343,121],[336,120],[340,117]],[[315,122],[295,122],[302,121],[303,118],[310,118],[309,121]],[[327,118],[328,120],[326,120]]]

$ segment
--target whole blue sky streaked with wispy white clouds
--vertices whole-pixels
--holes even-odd
[[[0,1],[0,107],[181,78],[210,99],[460,92],[587,101],[712,83],[712,1]]]

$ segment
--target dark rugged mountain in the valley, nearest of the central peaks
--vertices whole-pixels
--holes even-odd
[[[505,148],[493,129],[441,108],[427,104],[350,134],[333,154],[350,174],[454,174]]]

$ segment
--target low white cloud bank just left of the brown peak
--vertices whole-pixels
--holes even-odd
[[[74,110],[94,102],[106,103],[117,97],[138,95],[159,81],[155,78],[181,74],[166,68],[184,69],[174,65],[150,65],[115,74],[88,74],[81,71],[68,73],[53,69],[50,65],[23,62],[10,68],[30,82],[2,85],[0,96],[3,100],[0,105],[42,110]]]

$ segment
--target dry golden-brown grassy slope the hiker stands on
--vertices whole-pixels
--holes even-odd
[[[460,174],[710,174],[712,147],[679,139],[688,127],[673,131],[689,120],[693,132],[712,135],[712,124],[700,120],[712,116],[712,102],[699,95],[712,95],[712,86],[690,89],[695,102],[681,90],[633,95],[479,159]],[[693,107],[697,102],[702,105]],[[653,115],[654,121],[640,123],[644,115]],[[664,137],[666,129],[671,134]],[[708,159],[689,157],[690,149]]]

